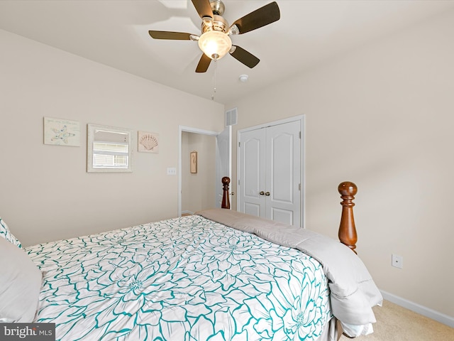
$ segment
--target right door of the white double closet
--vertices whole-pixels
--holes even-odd
[[[266,131],[266,217],[301,226],[301,143],[299,121]]]

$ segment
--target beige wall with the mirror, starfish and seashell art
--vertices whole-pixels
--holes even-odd
[[[177,216],[179,124],[222,131],[223,105],[6,31],[0,45],[0,215],[23,244]],[[81,146],[43,144],[43,117],[80,121]],[[86,172],[88,123],[133,129],[133,173]],[[137,152],[138,130],[159,153]]]

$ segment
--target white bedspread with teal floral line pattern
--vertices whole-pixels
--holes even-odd
[[[316,340],[332,316],[315,259],[197,215],[26,251],[57,340]]]

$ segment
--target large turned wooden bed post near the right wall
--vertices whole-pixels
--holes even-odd
[[[356,254],[358,236],[356,235],[355,219],[353,218],[353,206],[355,206],[353,199],[355,199],[355,195],[358,192],[358,187],[354,183],[350,183],[350,181],[345,181],[338,186],[338,191],[342,198],[342,216],[338,237],[341,243],[350,247]]]

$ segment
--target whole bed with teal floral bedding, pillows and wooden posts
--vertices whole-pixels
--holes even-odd
[[[353,252],[356,187],[339,192],[347,247],[225,208],[25,249],[0,219],[0,322],[67,341],[337,340],[337,320],[367,334],[382,296]]]

